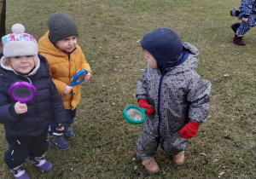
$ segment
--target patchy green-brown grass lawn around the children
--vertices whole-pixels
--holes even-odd
[[[40,38],[49,15],[70,14],[79,27],[79,45],[93,80],[84,84],[71,147],[49,147],[54,168],[42,174],[26,161],[34,178],[253,178],[255,165],[255,45],[247,32],[244,47],[232,43],[238,20],[230,10],[240,2],[206,0],[8,0],[6,31],[19,22]],[[29,5],[28,5],[29,4]],[[148,174],[136,156],[141,125],[128,124],[122,113],[137,105],[137,80],[147,64],[137,40],[159,27],[173,28],[200,51],[198,73],[212,82],[210,118],[189,141],[186,163],[172,164],[161,149],[155,154],[160,172]],[[0,156],[8,148],[0,125]],[[4,159],[0,178],[10,178]]]

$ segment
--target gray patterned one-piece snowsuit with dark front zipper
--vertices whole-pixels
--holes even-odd
[[[137,141],[137,156],[144,160],[153,157],[160,147],[170,155],[185,149],[188,140],[178,133],[192,120],[202,124],[207,120],[210,107],[211,83],[195,72],[198,66],[198,49],[183,42],[189,49],[186,61],[171,67],[166,74],[147,65],[137,82],[137,98],[148,99],[155,113],[148,114]]]

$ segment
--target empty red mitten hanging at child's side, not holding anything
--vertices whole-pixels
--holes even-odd
[[[185,126],[179,130],[180,136],[182,136],[185,139],[192,138],[196,136],[196,133],[198,132],[200,124],[195,123],[193,121],[189,121],[188,124],[185,124]]]

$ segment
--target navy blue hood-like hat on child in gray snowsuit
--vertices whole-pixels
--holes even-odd
[[[147,49],[154,56],[161,72],[166,67],[176,66],[183,57],[183,41],[170,28],[163,27],[148,32],[141,44],[143,49]]]

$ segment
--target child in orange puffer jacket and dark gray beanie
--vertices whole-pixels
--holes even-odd
[[[75,136],[71,124],[76,116],[82,88],[82,84],[73,87],[70,84],[74,75],[82,69],[88,71],[84,76],[84,81],[88,81],[91,78],[91,70],[82,49],[77,44],[79,32],[72,18],[68,14],[55,13],[49,17],[48,26],[49,32],[38,40],[38,48],[39,53],[49,62],[49,72],[64,103],[69,126],[64,136],[70,139]],[[54,127],[51,125],[50,129]],[[49,143],[52,146],[60,150],[70,147],[63,136],[58,136],[52,130],[49,130],[49,134]]]

